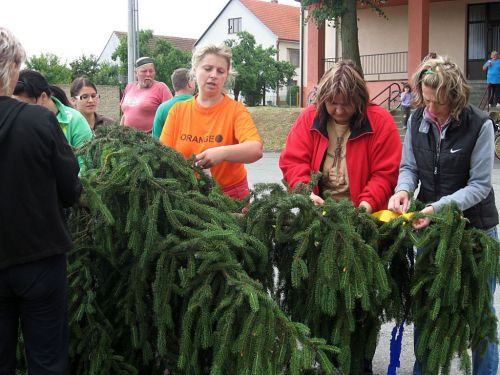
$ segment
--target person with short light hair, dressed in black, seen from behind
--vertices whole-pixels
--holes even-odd
[[[78,162],[55,115],[11,98],[25,52],[0,27],[0,374],[15,374],[20,323],[30,374],[66,374],[63,209],[78,199]]]

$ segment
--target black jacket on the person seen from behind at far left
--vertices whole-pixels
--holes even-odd
[[[71,248],[79,166],[53,113],[0,96],[0,270]]]

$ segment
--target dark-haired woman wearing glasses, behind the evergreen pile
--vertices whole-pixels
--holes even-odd
[[[71,83],[69,94],[71,95],[73,107],[85,117],[92,131],[95,131],[100,125],[115,123],[112,118],[96,112],[100,96],[97,93],[96,85],[87,77],[75,78]]]

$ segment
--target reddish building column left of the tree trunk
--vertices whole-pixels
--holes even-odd
[[[319,28],[314,20],[307,23],[307,80],[303,105],[307,106],[309,93],[325,73],[325,24]]]

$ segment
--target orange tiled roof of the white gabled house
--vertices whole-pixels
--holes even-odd
[[[300,40],[300,7],[260,0],[240,0],[282,40]]]

